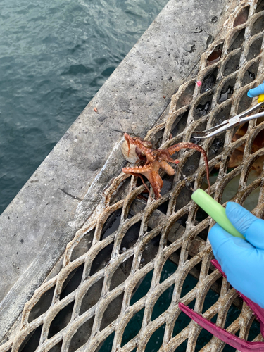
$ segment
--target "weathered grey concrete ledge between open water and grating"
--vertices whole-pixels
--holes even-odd
[[[1,215],[1,340],[120,173],[123,132],[143,137],[161,118],[230,3],[170,0]]]

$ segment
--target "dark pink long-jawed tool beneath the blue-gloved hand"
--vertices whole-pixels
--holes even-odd
[[[226,277],[225,272],[222,271],[220,264],[218,263],[218,260],[213,259],[211,262],[213,265],[215,265],[215,268],[217,268],[221,274]],[[256,318],[258,318],[258,321],[260,322],[260,332],[264,337],[264,309],[258,306],[257,303],[251,301],[251,299],[241,294],[239,291],[237,292],[243,298],[249,308],[251,308],[253,313],[256,315]],[[213,324],[213,322],[210,322],[210,320],[206,320],[206,318],[203,318],[203,316],[199,313],[196,313],[191,308],[184,306],[183,303],[179,303],[179,308],[182,310],[182,312],[187,314],[189,318],[197,322],[201,327],[218,337],[218,339],[224,341],[226,344],[237,348],[237,350],[241,352],[264,352],[264,342],[245,341],[244,339],[240,339],[230,332],[227,332],[227,330],[218,327],[217,325]]]

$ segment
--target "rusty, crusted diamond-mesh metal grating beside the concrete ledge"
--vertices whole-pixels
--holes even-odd
[[[194,142],[195,130],[248,108],[252,101],[246,92],[264,78],[263,38],[264,1],[239,4],[201,57],[196,77],[172,96],[163,122],[146,139],[156,148]],[[251,121],[244,132],[234,135],[230,130],[199,142],[215,173],[211,187],[215,199],[246,204],[255,193],[249,208],[260,218],[264,216],[264,148],[257,142],[263,131],[264,122]],[[194,189],[206,188],[203,159],[193,150],[181,151],[177,157],[181,162],[175,176],[163,175],[162,197],[157,201],[142,193],[144,185],[138,185],[136,177],[121,173],[113,180],[103,194],[104,206],[70,241],[61,270],[26,303],[20,328],[0,351],[92,352],[99,351],[109,336],[114,336],[111,351],[151,351],[148,343],[151,337],[160,338],[158,329],[163,333],[155,351],[222,351],[225,344],[215,337],[197,349],[201,327],[194,322],[182,326],[179,301],[193,304],[208,319],[215,317],[222,327],[234,303],[241,313],[227,330],[248,338],[254,320],[251,310],[210,267],[213,254],[206,237],[213,222],[191,201],[191,191],[181,179],[180,170]],[[237,191],[230,195],[227,184],[236,180],[232,189]],[[177,263],[177,270],[164,275],[170,261]],[[197,282],[186,289],[190,273]],[[137,289],[146,277],[149,287],[139,296]],[[211,289],[219,295],[215,303],[208,298]],[[165,292],[169,292],[168,304],[156,316],[156,304]],[[139,315],[137,333],[125,340],[125,329]],[[27,349],[33,337],[34,349]],[[252,339],[262,341],[259,329]]]

